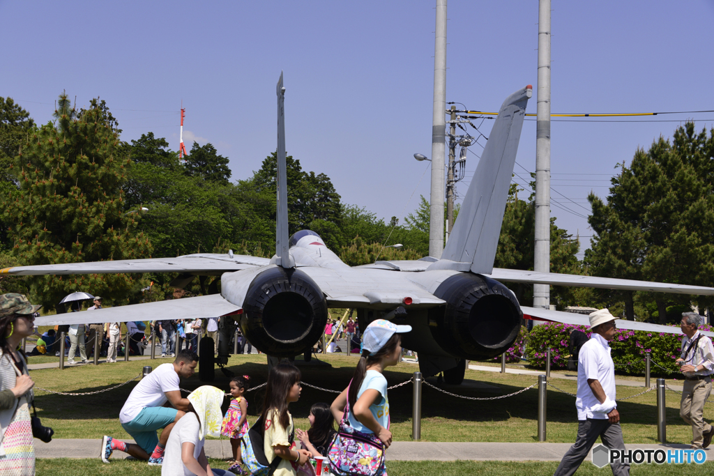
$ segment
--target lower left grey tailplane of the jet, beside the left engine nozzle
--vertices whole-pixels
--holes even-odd
[[[164,320],[216,318],[240,309],[220,294],[197,296],[195,298],[171,299],[120,305],[114,308],[85,310],[79,313],[45,315],[35,319],[35,325],[72,325],[86,323],[126,323],[129,320]]]

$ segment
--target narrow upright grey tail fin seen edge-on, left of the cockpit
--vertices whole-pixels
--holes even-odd
[[[285,88],[283,71],[276,87],[278,94],[278,223],[276,223],[275,264],[283,268],[294,268],[288,243],[288,175],[285,164]]]

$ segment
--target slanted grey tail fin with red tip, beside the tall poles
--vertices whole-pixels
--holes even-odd
[[[433,268],[448,267],[448,260],[471,263],[473,273],[493,270],[523,116],[532,95],[529,85],[503,101],[441,260]]]

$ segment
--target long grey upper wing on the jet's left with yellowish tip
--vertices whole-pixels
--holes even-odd
[[[14,276],[103,274],[103,273],[195,273],[221,275],[270,263],[268,258],[248,255],[222,255],[200,253],[176,258],[149,258],[144,260],[106,260],[91,263],[66,263],[58,265],[15,266],[0,270],[1,274]]]

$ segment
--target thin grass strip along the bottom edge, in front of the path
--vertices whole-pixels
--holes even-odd
[[[226,462],[209,460],[211,467],[226,468]],[[389,476],[550,476],[558,462],[501,462],[501,461],[387,461]],[[704,465],[633,465],[633,476],[704,476],[714,472],[714,462]],[[37,460],[38,476],[112,475],[144,476],[161,475],[161,467],[149,466],[146,462],[116,460],[105,465],[99,458],[92,460]],[[610,467],[602,469],[586,461],[576,473],[578,476],[611,475]]]

